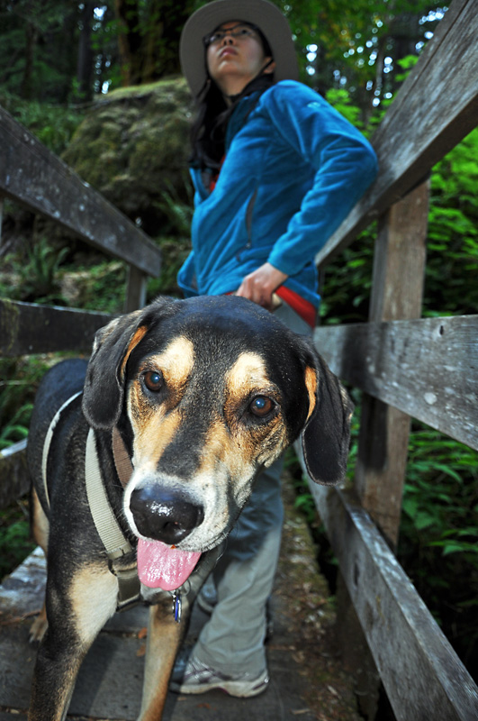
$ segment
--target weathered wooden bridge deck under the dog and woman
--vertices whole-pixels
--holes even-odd
[[[308,531],[286,503],[284,543],[275,584],[275,630],[268,643],[270,688],[253,699],[221,691],[185,697],[170,693],[164,721],[358,721],[354,681],[333,647],[334,611],[317,573]],[[41,607],[45,561],[40,550],[0,587],[0,721],[25,721],[36,649],[28,642]],[[68,718],[133,721],[140,708],[148,611],[116,614],[86,657]],[[187,644],[207,616],[194,609]]]

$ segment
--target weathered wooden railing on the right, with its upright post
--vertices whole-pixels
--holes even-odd
[[[426,178],[478,123],[476,10],[474,0],[451,4],[374,134],[374,187],[317,258],[327,277],[330,260],[378,217],[369,323],[314,334],[330,368],[363,391],[354,484],[311,492],[398,721],[478,718],[476,685],[393,553],[410,416],[478,449],[478,315],[420,318]]]

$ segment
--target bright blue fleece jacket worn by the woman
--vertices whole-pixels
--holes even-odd
[[[242,99],[230,117],[214,190],[191,170],[193,251],[178,283],[186,297],[228,293],[268,261],[318,306],[314,257],[374,180],[375,154],[302,83],[277,83],[248,114],[256,101]]]

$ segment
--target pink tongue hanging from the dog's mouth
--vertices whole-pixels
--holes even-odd
[[[150,589],[173,591],[183,585],[201,553],[180,551],[161,541],[138,539],[138,576]]]

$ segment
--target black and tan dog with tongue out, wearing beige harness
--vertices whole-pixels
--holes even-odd
[[[30,721],[65,718],[86,652],[131,600],[150,604],[139,718],[158,721],[185,616],[257,471],[301,437],[311,478],[338,483],[351,415],[311,342],[239,297],[158,298],[98,331],[89,362],[49,370],[28,441],[48,565]]]

